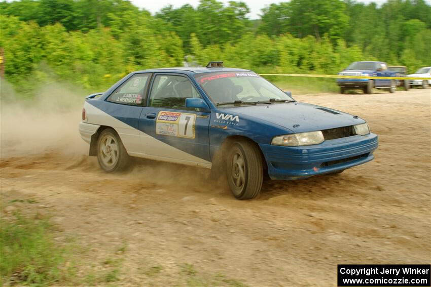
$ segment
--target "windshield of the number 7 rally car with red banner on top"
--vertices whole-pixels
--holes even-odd
[[[283,91],[253,72],[195,74],[196,81],[215,104],[294,101]]]

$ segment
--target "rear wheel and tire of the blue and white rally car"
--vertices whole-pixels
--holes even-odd
[[[127,169],[130,156],[113,129],[103,130],[97,139],[97,161],[105,172],[119,172]]]

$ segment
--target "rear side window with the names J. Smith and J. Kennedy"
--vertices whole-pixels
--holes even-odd
[[[118,104],[140,106],[145,102],[144,96],[150,74],[136,74],[128,79],[109,97],[108,101]]]

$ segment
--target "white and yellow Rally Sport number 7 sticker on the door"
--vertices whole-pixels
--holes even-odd
[[[195,138],[196,114],[160,111],[156,121],[156,134],[180,138]]]

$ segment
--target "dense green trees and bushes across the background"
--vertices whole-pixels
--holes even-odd
[[[22,0],[0,3],[6,77],[29,89],[50,78],[104,89],[130,71],[200,64],[260,72],[336,73],[352,61],[430,65],[431,6],[393,0],[271,4],[261,19],[231,1],[168,6],[152,16],[125,0]]]

